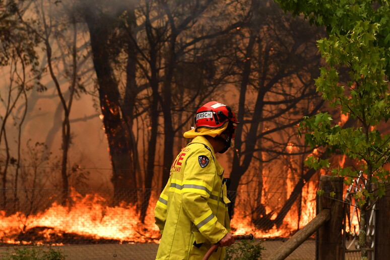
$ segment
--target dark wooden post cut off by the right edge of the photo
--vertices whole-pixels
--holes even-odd
[[[390,183],[386,194],[376,202],[375,259],[388,259],[390,255]]]

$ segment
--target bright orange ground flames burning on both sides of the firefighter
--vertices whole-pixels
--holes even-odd
[[[293,183],[287,184],[291,191]],[[303,193],[309,194],[310,190],[316,187],[314,183],[307,184]],[[242,197],[245,196],[246,193],[242,193]],[[0,211],[1,241],[9,244],[44,245],[80,243],[82,239],[87,240],[84,243],[107,242],[107,240],[111,243],[158,243],[160,232],[154,223],[153,213],[156,197],[151,197],[145,223],[140,223],[136,206],[121,202],[118,206],[111,207],[108,206],[108,200],[98,193],[82,196],[72,189],[70,204],[72,206],[53,203],[51,207],[35,215],[18,212],[9,216],[5,211]],[[248,200],[248,198],[243,199]],[[266,214],[273,214],[270,218],[272,221],[275,220],[277,213],[274,212],[273,205],[268,205],[268,201],[269,198],[262,197]],[[268,230],[260,230],[253,224],[244,205],[236,207],[234,218],[231,220],[233,234],[251,233],[256,238],[289,237],[298,227],[296,206],[292,207],[281,226],[273,225]],[[315,200],[310,199],[309,196],[303,198],[299,226],[303,227],[314,216]]]

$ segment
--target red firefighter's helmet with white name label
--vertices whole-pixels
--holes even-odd
[[[195,123],[198,127],[219,128],[225,122],[238,123],[231,108],[217,101],[210,101],[197,110]]]

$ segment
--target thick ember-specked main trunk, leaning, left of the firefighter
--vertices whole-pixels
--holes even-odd
[[[99,85],[99,100],[103,114],[103,124],[108,140],[109,154],[112,164],[112,184],[114,186],[113,204],[120,201],[136,203],[137,194],[128,194],[128,189],[137,188],[137,179],[133,163],[131,142],[132,133],[126,125],[120,107],[118,83],[111,67],[108,39],[110,36],[110,21],[92,13],[91,9],[84,12],[88,25],[93,53],[93,63]],[[126,191],[126,193],[124,193]]]

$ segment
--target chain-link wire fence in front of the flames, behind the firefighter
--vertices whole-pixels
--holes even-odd
[[[61,203],[58,189],[0,192],[1,254],[39,246],[61,251],[66,259],[155,258],[160,233],[153,210],[161,189],[72,189],[67,203]],[[118,193],[121,200],[113,200]],[[265,257],[315,217],[315,193],[301,193],[291,205],[286,205],[291,192],[230,196],[236,197],[232,232],[252,233],[265,247]],[[315,235],[287,259],[315,259]]]

